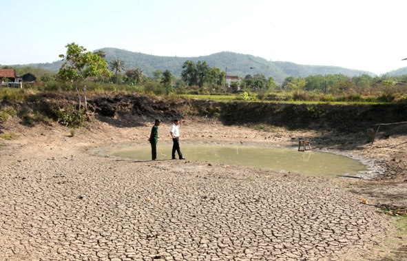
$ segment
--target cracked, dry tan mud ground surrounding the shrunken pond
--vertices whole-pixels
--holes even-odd
[[[280,174],[189,160],[97,156],[147,143],[152,123],[59,126],[10,121],[1,141],[0,260],[401,260],[405,235],[377,205],[407,206],[405,136],[359,142],[186,119],[181,140],[340,149],[383,169],[381,180]],[[169,123],[159,143],[169,139]],[[259,128],[257,128],[259,129]],[[324,136],[325,138],[320,138]],[[158,143],[158,144],[159,144]],[[338,145],[339,144],[339,145]],[[181,145],[182,146],[182,145]],[[158,147],[159,149],[159,147]],[[368,204],[363,204],[361,198]]]

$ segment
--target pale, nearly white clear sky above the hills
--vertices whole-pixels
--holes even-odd
[[[407,67],[403,0],[14,0],[0,65],[52,63],[68,43],[156,56],[218,52],[381,75]],[[7,14],[6,11],[7,10]]]

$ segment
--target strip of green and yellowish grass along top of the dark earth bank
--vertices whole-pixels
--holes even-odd
[[[155,83],[154,83],[155,84]],[[98,94],[152,94],[163,95],[163,90],[160,89],[159,84],[149,86],[149,85],[114,85],[111,83],[93,83],[90,81],[87,83],[87,94],[89,96]],[[49,84],[50,87],[38,87],[36,89],[31,88],[10,88],[3,87],[0,88],[0,100],[8,99],[11,101],[25,101],[30,94],[35,94],[41,92],[41,90],[52,91],[63,91],[63,92],[74,92],[72,86],[65,86],[61,83]],[[151,84],[150,84],[151,85]],[[376,104],[389,104],[407,101],[407,96],[399,97],[399,99],[386,99],[382,96],[362,96],[353,94],[313,94],[312,92],[301,92],[296,94],[290,91],[272,91],[267,93],[258,92],[244,92],[236,94],[173,94],[175,96],[190,98],[190,99],[201,99],[207,101],[255,101],[262,103],[294,103],[294,104],[337,104],[337,105],[376,105]]]

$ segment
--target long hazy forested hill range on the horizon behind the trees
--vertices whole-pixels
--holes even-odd
[[[244,77],[247,74],[264,74],[264,76],[273,77],[275,82],[282,83],[288,76],[306,77],[317,74],[344,74],[346,76],[357,76],[369,74],[375,76],[372,72],[362,70],[351,70],[335,66],[315,66],[300,65],[286,61],[267,61],[266,59],[250,54],[237,54],[234,52],[218,52],[207,56],[198,57],[178,57],[178,56],[155,56],[151,54],[142,54],[140,52],[129,52],[117,48],[99,49],[105,52],[107,62],[113,59],[124,61],[126,69],[140,68],[147,76],[152,76],[156,70],[169,70],[175,76],[180,76],[182,64],[187,61],[206,61],[209,67],[218,67],[222,71],[227,71],[227,75],[237,75]],[[96,50],[95,50],[96,51]],[[41,67],[51,72],[58,72],[62,62],[54,63],[33,63],[30,66]]]

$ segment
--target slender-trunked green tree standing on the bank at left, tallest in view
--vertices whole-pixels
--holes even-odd
[[[81,94],[79,94],[79,82],[83,83],[83,98],[85,111],[87,110],[86,79],[87,77],[110,76],[107,63],[101,56],[86,52],[86,48],[76,43],[65,45],[66,54],[60,54],[64,63],[59,69],[57,77],[61,81],[75,84],[79,98],[79,109],[81,109]]]

